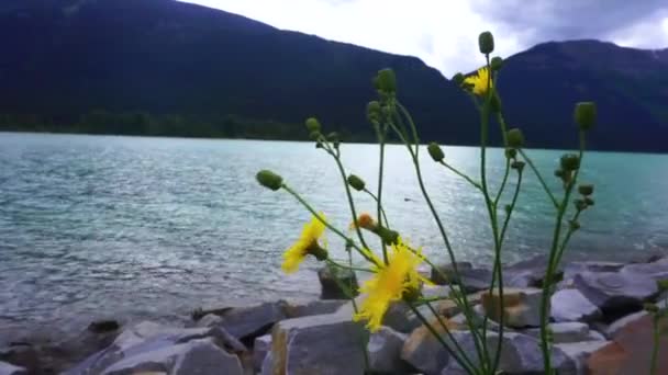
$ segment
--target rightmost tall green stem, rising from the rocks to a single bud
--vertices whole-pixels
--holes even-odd
[[[559,250],[558,246],[559,246],[559,238],[560,238],[560,234],[561,234],[561,226],[564,225],[564,223],[563,223],[564,215],[566,214],[566,208],[568,207],[568,201],[570,200],[570,194],[572,192],[574,186],[577,183],[578,175],[582,168],[583,152],[584,152],[584,133],[580,130],[580,152],[579,152],[580,166],[576,170],[572,180],[566,188],[566,193],[564,195],[564,200],[561,201],[561,203],[559,205],[557,205],[557,207],[558,207],[557,219],[555,223],[555,230],[553,234],[552,247],[549,250],[549,261],[547,263],[547,272],[545,273],[545,282],[543,283],[543,298],[541,300],[541,350],[543,351],[543,364],[544,364],[546,374],[554,374],[553,368],[552,368],[552,354],[550,354],[550,348],[549,348],[549,342],[548,342],[548,332],[547,332],[547,323],[549,320],[548,306],[549,306],[549,298],[550,298],[552,289],[553,289],[553,285],[552,285],[553,275],[558,265],[556,263],[556,260],[557,260],[558,250]]]

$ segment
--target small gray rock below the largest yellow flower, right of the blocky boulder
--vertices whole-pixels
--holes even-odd
[[[369,338],[369,370],[382,374],[407,374],[411,367],[401,360],[401,349],[407,336],[382,327]]]

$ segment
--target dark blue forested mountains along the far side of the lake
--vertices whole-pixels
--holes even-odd
[[[370,78],[391,67],[422,139],[479,139],[470,101],[417,58],[171,0],[3,0],[0,56],[0,129],[299,138],[315,115],[371,139]],[[667,80],[668,49],[576,41],[509,57],[499,88],[530,146],[572,148],[572,106],[595,100],[590,147],[668,151]]]

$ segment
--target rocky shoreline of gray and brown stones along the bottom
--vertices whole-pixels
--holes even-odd
[[[501,370],[508,374],[541,373],[538,305],[546,260],[536,257],[504,266],[505,319]],[[437,284],[427,297],[447,296]],[[488,340],[496,342],[493,320],[501,314],[497,295],[485,288],[491,271],[459,263],[469,300],[480,320],[491,318]],[[560,269],[552,297],[553,359],[559,374],[647,373],[652,352],[652,316],[645,303],[668,304],[656,282],[668,279],[668,255],[631,263],[578,261]],[[353,274],[346,281],[356,282]],[[319,273],[322,297],[294,303],[278,300],[246,307],[198,309],[192,321],[172,327],[155,321],[123,326],[97,321],[64,341],[13,341],[0,348],[0,375],[20,374],[364,374],[360,339],[352,321],[353,306],[341,299],[338,284]],[[494,305],[497,304],[497,305]],[[457,341],[474,353],[471,334],[457,306],[433,304]],[[430,319],[436,317],[419,308]],[[658,373],[668,373],[668,338],[661,339]],[[368,368],[374,374],[463,374],[456,361],[403,304],[390,308],[380,331],[369,337]]]

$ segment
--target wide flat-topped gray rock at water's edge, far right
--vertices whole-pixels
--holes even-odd
[[[654,279],[623,272],[581,272],[574,285],[604,314],[625,314],[642,308],[658,294]]]

